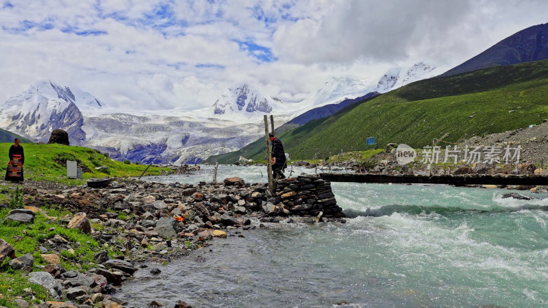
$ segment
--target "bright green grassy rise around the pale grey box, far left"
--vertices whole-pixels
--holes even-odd
[[[5,157],[5,164],[0,170],[5,173],[8,164],[10,143],[0,144],[0,157]],[[125,164],[114,161],[107,155],[94,149],[82,146],[65,146],[61,144],[22,144],[25,150],[25,179],[52,181],[68,185],[81,185],[86,179],[105,177],[138,177],[147,168],[146,165]],[[66,178],[66,160],[79,162],[82,166],[82,180]],[[97,166],[107,166],[107,170],[95,170]],[[168,168],[151,166],[146,175],[160,175],[171,172]]]

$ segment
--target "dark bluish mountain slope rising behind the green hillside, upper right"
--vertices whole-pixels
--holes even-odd
[[[523,29],[508,36],[470,60],[451,68],[441,76],[479,70],[499,65],[548,59],[548,23]]]

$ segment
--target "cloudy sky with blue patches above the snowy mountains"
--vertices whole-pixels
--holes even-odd
[[[0,0],[0,102],[40,79],[129,109],[208,107],[242,82],[297,102],[329,77],[451,68],[546,12],[545,0]]]

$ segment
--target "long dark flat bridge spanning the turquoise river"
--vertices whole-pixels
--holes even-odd
[[[548,177],[533,175],[379,175],[361,173],[320,173],[331,182],[422,183],[448,185],[548,185]]]

